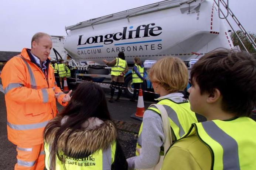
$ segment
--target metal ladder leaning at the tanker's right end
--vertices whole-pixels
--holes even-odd
[[[244,47],[244,49],[248,52],[248,50],[246,49],[244,43],[242,42],[242,40],[240,39],[240,37],[238,36],[238,34],[236,33],[236,31],[234,30],[234,28],[232,27],[231,23],[228,20],[228,15],[230,14],[231,17],[233,18],[233,20],[235,21],[235,23],[239,26],[240,31],[243,32],[243,35],[246,36],[246,38],[248,39],[248,41],[251,43],[251,45],[253,46],[253,48],[256,51],[256,43],[254,42],[254,40],[252,39],[252,37],[249,35],[249,33],[246,31],[246,29],[243,27],[243,25],[240,23],[240,21],[238,20],[238,18],[236,18],[235,14],[231,11],[231,9],[229,8],[229,0],[227,0],[227,3],[224,0],[218,0],[218,2],[216,2],[216,0],[214,0],[215,4],[218,6],[218,11],[219,11],[219,18],[221,19],[225,19],[229,26],[231,27],[232,31],[235,33],[235,35],[237,36],[237,38],[239,39],[240,43],[242,44],[242,46]],[[223,11],[221,10],[220,7],[220,2],[222,3],[222,5],[226,8],[227,13],[224,14]],[[221,13],[223,15],[223,17],[221,17]]]

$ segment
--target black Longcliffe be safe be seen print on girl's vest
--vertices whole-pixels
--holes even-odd
[[[61,159],[64,160],[61,162],[61,164],[72,164],[76,166],[95,166],[95,158],[93,158],[92,156],[75,159],[72,157],[61,155]]]

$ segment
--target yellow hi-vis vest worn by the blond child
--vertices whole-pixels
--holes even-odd
[[[163,100],[160,100],[157,104],[163,105],[167,111],[169,121],[170,121],[173,141],[180,139],[186,132],[188,132],[192,123],[198,122],[197,117],[195,116],[195,113],[190,110],[190,103],[188,102],[188,100],[184,99],[184,102],[175,103],[170,99],[163,99]],[[159,114],[161,116],[160,111],[155,106],[151,106],[148,109],[156,112],[156,114]],[[143,122],[141,123],[141,126],[140,126],[139,137],[137,141],[137,148],[142,147],[142,138],[143,138],[142,127],[143,127]],[[164,148],[162,146],[160,155],[164,155],[163,151],[164,151]],[[136,155],[139,155],[137,151],[136,151]]]

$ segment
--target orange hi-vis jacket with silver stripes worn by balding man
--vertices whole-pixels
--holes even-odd
[[[30,49],[24,48],[1,72],[8,139],[20,146],[43,143],[44,127],[57,114],[55,92],[63,93],[56,85],[49,58],[45,64],[47,76],[33,61]],[[62,103],[64,96],[63,93],[57,99],[63,106],[67,105],[67,102]]]

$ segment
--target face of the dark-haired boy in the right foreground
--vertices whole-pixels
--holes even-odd
[[[188,89],[188,92],[190,93],[190,109],[195,113],[204,115],[208,95],[206,93],[201,95],[200,88],[194,80],[192,80],[192,86]]]

